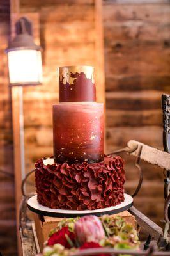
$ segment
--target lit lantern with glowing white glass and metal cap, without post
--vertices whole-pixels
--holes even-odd
[[[16,24],[17,35],[8,45],[10,86],[42,84],[41,48],[33,41],[31,22],[21,18]]]

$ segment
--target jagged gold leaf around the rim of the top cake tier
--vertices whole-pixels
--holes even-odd
[[[59,67],[59,80],[63,80],[63,84],[73,84],[75,77],[71,77],[71,73],[84,73],[87,79],[91,79],[92,83],[95,84],[95,71],[92,66],[68,66]]]

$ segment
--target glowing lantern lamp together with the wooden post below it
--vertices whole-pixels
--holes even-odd
[[[42,84],[42,54],[41,47],[33,40],[32,23],[26,17],[21,17],[16,22],[15,31],[16,36],[5,51],[8,55],[8,74],[12,87],[15,175],[24,179],[23,86]],[[20,182],[18,183],[20,186]]]

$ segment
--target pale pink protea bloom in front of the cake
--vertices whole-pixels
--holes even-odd
[[[105,237],[101,221],[93,215],[83,216],[76,221],[74,231],[81,245],[86,242],[98,243]]]

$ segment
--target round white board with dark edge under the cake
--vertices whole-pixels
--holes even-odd
[[[27,207],[32,212],[35,212],[40,215],[44,216],[50,216],[50,217],[60,217],[60,218],[74,218],[77,216],[84,216],[84,215],[96,215],[96,216],[102,216],[104,214],[116,214],[119,212],[126,211],[133,205],[133,198],[130,195],[124,194],[125,201],[121,202],[121,204],[118,204],[116,206],[111,206],[103,209],[97,209],[97,210],[83,210],[83,211],[77,211],[77,210],[62,210],[62,209],[51,209],[49,207],[43,206],[38,203],[37,196],[34,195],[27,201]]]

